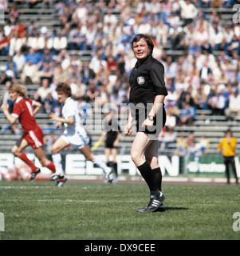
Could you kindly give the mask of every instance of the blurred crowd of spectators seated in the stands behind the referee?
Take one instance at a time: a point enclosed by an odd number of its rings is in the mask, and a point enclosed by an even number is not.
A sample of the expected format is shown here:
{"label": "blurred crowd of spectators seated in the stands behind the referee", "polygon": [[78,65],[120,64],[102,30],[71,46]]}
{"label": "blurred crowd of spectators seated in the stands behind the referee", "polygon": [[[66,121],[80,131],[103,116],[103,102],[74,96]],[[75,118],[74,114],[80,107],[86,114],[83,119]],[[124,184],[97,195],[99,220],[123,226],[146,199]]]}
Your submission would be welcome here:
{"label": "blurred crowd of spectators seated in the stands behind the referee", "polygon": [[[8,56],[6,82],[39,84],[34,98],[54,110],[57,83],[67,82],[76,99],[120,106],[128,102],[128,75],[136,59],[131,41],[150,34],[153,56],[163,62],[171,128],[191,126],[196,110],[233,119],[240,114],[240,25],[218,10],[237,0],[0,0],[9,10],[0,29],[0,55]],[[22,24],[19,6],[52,8],[59,29]],[[213,8],[208,15],[205,8]],[[50,15],[50,14],[49,14]],[[169,50],[166,54],[166,50]],[[175,54],[180,52],[180,54]],[[79,52],[88,52],[81,61]],[[46,103],[47,102],[47,103]],[[173,117],[173,118],[172,118]]]}

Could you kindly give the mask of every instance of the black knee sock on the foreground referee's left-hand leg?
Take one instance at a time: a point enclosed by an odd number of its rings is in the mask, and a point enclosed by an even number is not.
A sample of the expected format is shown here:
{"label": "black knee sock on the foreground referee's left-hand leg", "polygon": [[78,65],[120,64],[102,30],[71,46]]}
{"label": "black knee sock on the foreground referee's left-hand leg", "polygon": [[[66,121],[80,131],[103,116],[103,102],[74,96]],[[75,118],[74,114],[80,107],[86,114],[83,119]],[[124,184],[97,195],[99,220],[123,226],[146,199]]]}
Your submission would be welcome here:
{"label": "black knee sock on the foreground referee's left-hand leg", "polygon": [[144,164],[138,166],[137,168],[140,170],[140,174],[143,176],[145,182],[147,182],[151,195],[159,196],[159,189],[155,185],[151,166],[148,164],[148,162],[144,162]]}

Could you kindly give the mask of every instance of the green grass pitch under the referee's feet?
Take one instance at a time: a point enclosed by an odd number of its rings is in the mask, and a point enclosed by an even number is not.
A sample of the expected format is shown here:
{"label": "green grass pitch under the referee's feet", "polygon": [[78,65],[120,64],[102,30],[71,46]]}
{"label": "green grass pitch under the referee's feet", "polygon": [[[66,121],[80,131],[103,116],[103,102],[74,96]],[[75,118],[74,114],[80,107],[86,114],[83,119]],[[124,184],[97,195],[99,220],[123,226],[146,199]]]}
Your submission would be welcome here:
{"label": "green grass pitch under the referee's feet", "polygon": [[240,186],[163,184],[166,211],[144,183],[0,182],[2,240],[239,240]]}

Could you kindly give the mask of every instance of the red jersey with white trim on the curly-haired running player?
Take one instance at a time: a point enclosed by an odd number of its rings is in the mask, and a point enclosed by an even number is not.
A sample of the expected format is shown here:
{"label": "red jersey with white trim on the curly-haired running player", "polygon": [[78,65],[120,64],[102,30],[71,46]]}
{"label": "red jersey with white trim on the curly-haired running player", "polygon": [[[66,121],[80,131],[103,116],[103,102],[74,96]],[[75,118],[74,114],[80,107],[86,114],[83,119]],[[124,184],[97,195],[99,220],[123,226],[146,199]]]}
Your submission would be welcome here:
{"label": "red jersey with white trim on the curly-haired running player", "polygon": [[25,133],[29,133],[38,126],[33,114],[33,100],[31,99],[18,98],[14,103],[12,117],[18,118]]}

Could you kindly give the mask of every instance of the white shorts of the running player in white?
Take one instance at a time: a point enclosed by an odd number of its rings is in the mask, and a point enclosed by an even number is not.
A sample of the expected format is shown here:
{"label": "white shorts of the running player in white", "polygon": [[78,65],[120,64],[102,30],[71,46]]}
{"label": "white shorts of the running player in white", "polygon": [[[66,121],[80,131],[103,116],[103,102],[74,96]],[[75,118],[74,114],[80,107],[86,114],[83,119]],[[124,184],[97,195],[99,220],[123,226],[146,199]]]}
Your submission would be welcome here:
{"label": "white shorts of the running player in white", "polygon": [[89,145],[89,136],[84,129],[81,132],[77,132],[73,135],[63,134],[61,138],[65,140],[65,142],[69,143],[74,149],[81,150],[86,145]]}

